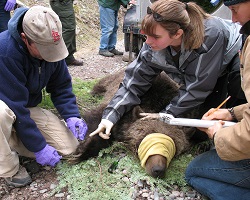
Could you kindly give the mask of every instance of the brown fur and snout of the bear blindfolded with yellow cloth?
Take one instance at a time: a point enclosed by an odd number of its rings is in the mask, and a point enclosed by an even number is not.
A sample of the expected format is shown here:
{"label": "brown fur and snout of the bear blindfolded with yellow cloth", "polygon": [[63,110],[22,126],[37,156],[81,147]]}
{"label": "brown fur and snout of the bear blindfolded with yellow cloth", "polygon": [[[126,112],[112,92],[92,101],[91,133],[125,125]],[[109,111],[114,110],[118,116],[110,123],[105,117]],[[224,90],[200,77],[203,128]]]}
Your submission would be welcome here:
{"label": "brown fur and snout of the bear blindfolded with yellow cloth", "polygon": [[[171,137],[176,146],[176,154],[179,155],[190,148],[190,138],[194,135],[195,128],[178,127],[168,125],[160,120],[142,119],[141,112],[158,113],[162,111],[170,100],[176,96],[178,86],[165,74],[161,73],[153,82],[150,90],[141,98],[141,104],[114,125],[109,140],[102,139],[98,134],[88,136],[101,121],[102,112],[107,106],[124,76],[124,71],[109,75],[101,79],[93,88],[93,95],[102,95],[102,104],[84,113],[84,119],[88,124],[88,133],[85,140],[80,142],[74,162],[80,162],[98,155],[99,151],[107,148],[113,141],[123,142],[134,154],[137,155],[138,147],[148,134],[163,133]],[[200,117],[201,112],[192,111],[185,117]],[[153,177],[163,177],[166,171],[166,158],[163,156],[150,156],[146,162],[146,171]]]}

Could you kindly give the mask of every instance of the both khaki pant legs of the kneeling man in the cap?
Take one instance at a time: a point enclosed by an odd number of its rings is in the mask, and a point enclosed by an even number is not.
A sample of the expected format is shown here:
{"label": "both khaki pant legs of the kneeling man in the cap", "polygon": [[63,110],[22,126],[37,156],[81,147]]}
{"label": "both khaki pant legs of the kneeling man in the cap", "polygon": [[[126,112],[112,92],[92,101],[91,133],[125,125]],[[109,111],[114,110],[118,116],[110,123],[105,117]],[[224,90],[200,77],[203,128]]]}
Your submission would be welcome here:
{"label": "both khaki pant legs of the kneeling man in the cap", "polygon": [[[69,155],[76,150],[78,140],[56,115],[39,107],[30,108],[30,114],[47,143],[60,155]],[[18,154],[35,158],[34,153],[27,150],[17,137],[12,127],[15,119],[13,111],[0,100],[0,177],[11,177],[17,173]]]}

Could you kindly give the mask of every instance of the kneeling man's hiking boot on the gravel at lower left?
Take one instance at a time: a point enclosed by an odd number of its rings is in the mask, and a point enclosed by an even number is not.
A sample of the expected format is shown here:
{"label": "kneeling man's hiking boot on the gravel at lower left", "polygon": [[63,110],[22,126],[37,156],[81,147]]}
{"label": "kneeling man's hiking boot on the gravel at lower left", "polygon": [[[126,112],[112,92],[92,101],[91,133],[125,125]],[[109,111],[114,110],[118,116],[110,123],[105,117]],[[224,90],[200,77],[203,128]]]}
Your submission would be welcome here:
{"label": "kneeling man's hiking boot on the gravel at lower left", "polygon": [[24,187],[32,182],[30,175],[21,165],[19,165],[19,170],[14,176],[4,178],[4,180],[9,186],[14,187]]}

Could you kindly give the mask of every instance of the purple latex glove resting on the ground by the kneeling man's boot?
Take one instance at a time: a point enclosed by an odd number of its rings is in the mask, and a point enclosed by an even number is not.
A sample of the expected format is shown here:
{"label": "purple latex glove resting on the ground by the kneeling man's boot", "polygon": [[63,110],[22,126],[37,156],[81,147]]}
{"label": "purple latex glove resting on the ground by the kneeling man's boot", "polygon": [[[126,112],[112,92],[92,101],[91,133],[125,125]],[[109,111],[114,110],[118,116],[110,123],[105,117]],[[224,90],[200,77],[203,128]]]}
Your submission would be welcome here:
{"label": "purple latex glove resting on the ground by the kneeling man's boot", "polygon": [[56,149],[50,145],[46,145],[41,151],[35,153],[36,162],[44,165],[50,165],[55,167],[56,164],[60,161],[62,156],[60,156]]}

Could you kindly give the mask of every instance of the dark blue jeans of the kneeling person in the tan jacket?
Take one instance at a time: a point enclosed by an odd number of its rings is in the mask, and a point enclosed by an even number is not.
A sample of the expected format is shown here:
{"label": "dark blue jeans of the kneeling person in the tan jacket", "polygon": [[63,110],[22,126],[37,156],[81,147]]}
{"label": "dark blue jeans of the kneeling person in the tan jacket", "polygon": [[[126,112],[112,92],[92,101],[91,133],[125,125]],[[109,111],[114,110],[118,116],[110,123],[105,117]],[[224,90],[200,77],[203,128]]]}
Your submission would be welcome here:
{"label": "dark blue jeans of the kneeling person in the tan jacket", "polygon": [[213,149],[197,156],[185,176],[189,185],[212,200],[250,199],[250,159],[223,161]]}

